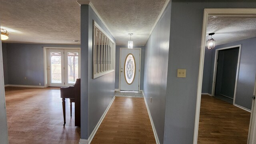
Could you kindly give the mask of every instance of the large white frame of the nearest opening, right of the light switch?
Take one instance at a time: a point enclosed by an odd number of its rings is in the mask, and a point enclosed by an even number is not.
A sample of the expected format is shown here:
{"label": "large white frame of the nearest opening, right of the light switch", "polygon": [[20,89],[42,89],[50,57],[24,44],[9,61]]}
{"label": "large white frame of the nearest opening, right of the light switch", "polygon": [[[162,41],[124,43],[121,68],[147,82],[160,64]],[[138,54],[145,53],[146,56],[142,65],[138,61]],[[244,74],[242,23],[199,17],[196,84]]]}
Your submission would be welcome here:
{"label": "large white frame of the nearest opening, right of the light switch", "polygon": [[198,138],[198,126],[199,126],[202,80],[203,80],[203,69],[204,69],[204,52],[205,52],[205,46],[206,46],[206,27],[207,27],[208,16],[256,16],[256,9],[254,8],[206,8],[204,9],[193,144],[197,144],[197,138]]}

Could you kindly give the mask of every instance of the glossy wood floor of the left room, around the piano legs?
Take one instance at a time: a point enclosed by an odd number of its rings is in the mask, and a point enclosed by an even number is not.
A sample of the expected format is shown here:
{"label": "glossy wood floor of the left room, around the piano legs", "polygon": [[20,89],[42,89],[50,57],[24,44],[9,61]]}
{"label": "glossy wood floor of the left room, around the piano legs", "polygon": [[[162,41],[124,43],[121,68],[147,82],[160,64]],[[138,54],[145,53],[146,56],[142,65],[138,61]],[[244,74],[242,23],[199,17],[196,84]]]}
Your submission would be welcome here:
{"label": "glossy wood floor of the left room, around the piano legs", "polygon": [[[5,94],[9,144],[79,143],[80,127],[70,118],[69,100],[63,126],[59,88],[6,87]],[[74,104],[72,110],[74,116]]]}

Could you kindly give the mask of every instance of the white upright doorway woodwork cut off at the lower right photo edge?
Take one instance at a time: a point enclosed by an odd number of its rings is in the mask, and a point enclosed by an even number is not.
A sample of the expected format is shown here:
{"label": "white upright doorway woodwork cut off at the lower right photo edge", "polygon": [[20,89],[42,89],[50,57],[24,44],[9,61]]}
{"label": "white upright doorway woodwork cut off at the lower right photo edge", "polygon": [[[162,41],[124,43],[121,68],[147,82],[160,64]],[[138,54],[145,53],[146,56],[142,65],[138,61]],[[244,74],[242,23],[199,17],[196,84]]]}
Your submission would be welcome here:
{"label": "white upright doorway woodwork cut off at the lower right photo edge", "polygon": [[248,134],[248,141],[247,144],[256,144],[256,102],[255,102],[255,95],[256,95],[256,78],[254,84],[254,92],[252,96],[252,112],[250,118],[250,127],[249,127],[249,134]]}

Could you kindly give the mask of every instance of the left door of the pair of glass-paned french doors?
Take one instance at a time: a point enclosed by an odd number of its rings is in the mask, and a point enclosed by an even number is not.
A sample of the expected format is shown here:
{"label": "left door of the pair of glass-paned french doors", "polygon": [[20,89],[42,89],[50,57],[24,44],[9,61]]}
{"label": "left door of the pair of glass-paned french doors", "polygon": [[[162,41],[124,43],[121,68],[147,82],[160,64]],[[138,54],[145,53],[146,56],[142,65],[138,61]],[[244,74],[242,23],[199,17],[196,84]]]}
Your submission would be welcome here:
{"label": "left door of the pair of glass-paned french doors", "polygon": [[48,56],[50,86],[64,86],[64,50],[50,49]]}

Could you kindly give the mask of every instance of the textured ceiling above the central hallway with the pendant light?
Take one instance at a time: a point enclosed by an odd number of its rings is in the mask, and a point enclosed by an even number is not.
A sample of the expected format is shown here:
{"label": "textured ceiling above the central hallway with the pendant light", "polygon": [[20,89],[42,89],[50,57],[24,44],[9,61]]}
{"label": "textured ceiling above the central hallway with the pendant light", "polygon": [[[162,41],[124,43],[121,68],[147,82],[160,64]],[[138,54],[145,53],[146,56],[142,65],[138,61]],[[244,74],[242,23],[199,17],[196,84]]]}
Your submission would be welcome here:
{"label": "textured ceiling above the central hallway with the pendant light", "polygon": [[134,45],[144,45],[166,0],[91,0],[116,38],[127,44],[133,33]]}

